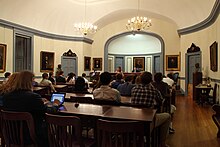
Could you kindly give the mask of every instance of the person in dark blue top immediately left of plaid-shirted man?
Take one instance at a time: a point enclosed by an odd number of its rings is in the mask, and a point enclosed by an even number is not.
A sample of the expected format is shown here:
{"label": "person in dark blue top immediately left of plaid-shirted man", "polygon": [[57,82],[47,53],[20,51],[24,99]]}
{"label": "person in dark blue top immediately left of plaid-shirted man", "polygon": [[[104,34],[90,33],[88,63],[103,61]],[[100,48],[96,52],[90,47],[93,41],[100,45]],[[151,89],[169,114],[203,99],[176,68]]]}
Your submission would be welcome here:
{"label": "person in dark blue top immediately left of plaid-shirted man", "polygon": [[125,78],[125,83],[119,84],[117,90],[123,96],[131,96],[131,89],[135,86],[132,82],[132,76],[127,76]]}

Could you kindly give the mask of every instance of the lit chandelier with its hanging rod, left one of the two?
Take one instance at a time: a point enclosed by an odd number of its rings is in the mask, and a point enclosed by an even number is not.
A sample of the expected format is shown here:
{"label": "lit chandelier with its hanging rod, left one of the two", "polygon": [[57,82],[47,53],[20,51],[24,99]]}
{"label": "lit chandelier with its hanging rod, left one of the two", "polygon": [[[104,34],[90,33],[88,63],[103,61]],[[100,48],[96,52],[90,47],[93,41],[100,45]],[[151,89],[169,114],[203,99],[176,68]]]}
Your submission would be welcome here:
{"label": "lit chandelier with its hanging rod, left one of the two", "polygon": [[90,22],[86,21],[86,0],[85,0],[85,16],[84,16],[84,22],[80,22],[80,23],[76,23],[74,24],[74,28],[81,32],[83,35],[87,35],[87,34],[93,34],[97,31],[97,26],[93,25]]}

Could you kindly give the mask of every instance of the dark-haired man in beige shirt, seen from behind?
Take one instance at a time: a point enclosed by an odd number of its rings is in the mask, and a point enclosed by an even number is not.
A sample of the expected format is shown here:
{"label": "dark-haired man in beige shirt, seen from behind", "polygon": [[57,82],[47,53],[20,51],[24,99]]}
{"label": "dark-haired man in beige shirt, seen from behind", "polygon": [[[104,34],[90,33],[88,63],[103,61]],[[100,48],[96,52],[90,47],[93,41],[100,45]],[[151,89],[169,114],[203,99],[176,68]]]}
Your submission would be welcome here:
{"label": "dark-haired man in beige shirt, seen from behind", "polygon": [[95,99],[107,99],[121,102],[119,91],[109,86],[111,78],[112,77],[109,72],[103,72],[100,75],[99,81],[101,86],[93,91],[93,96]]}

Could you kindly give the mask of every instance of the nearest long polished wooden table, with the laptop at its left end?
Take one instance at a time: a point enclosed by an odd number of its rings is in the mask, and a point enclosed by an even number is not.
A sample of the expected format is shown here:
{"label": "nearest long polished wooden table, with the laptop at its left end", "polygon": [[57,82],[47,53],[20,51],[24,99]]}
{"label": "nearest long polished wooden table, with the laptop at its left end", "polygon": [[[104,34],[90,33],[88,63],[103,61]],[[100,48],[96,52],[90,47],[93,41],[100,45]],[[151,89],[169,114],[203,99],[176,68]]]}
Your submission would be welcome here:
{"label": "nearest long polished wooden table, with the laptop at its left end", "polygon": [[63,106],[60,107],[59,113],[95,120],[95,123],[98,119],[143,122],[146,127],[146,146],[150,146],[151,144],[150,138],[151,131],[154,128],[156,109],[82,103],[77,106],[75,103],[65,102]]}

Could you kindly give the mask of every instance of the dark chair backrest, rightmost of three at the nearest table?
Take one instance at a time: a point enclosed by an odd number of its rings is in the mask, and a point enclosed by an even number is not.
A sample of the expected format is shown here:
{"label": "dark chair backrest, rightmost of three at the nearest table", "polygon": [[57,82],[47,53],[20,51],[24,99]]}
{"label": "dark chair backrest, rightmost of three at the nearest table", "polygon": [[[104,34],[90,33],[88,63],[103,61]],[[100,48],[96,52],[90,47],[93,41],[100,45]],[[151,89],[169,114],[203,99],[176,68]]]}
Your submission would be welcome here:
{"label": "dark chair backrest, rightmost of three at the nearest table", "polygon": [[137,121],[97,122],[98,147],[143,147],[144,124]]}

